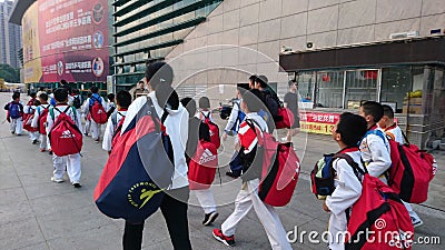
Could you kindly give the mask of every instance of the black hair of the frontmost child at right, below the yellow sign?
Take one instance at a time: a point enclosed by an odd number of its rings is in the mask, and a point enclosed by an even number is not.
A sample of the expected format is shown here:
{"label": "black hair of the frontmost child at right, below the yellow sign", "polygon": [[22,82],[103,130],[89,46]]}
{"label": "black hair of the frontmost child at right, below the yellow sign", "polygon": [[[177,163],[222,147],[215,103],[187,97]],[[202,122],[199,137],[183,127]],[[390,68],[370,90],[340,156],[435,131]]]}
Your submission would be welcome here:
{"label": "black hair of the frontmost child at right, below the yellow sign", "polygon": [[342,141],[348,147],[358,146],[358,142],[367,131],[367,122],[365,118],[350,112],[340,114],[337,123],[337,133],[342,134]]}

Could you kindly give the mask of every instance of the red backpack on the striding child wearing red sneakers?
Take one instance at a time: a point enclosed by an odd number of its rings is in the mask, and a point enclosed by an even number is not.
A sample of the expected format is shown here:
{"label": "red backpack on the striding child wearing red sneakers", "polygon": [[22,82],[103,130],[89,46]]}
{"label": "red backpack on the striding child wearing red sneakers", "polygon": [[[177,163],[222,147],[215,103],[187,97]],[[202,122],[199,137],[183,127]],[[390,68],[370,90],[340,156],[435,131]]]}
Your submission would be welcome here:
{"label": "red backpack on the striding child wearing red sneakers", "polygon": [[255,127],[255,120],[247,119],[246,122],[258,138],[259,157],[255,157],[253,162],[253,166],[261,166],[258,197],[269,206],[286,206],[293,197],[300,170],[293,143],[279,143],[273,134],[260,131],[259,126]]}

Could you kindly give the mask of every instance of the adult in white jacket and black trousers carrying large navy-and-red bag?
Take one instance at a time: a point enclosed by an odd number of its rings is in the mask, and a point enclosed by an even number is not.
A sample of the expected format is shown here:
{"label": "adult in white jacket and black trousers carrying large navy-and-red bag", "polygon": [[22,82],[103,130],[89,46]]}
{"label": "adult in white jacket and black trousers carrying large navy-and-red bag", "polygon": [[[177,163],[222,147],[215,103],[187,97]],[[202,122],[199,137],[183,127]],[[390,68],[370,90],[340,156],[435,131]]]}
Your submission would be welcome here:
{"label": "adult in white jacket and black trousers carrying large navy-and-red bag", "polygon": [[[187,219],[189,188],[185,154],[189,114],[180,104],[177,93],[170,87],[172,77],[171,67],[162,61],[147,66],[146,82],[150,90],[148,98],[151,99],[159,118],[162,118],[162,114],[167,112],[164,126],[170,137],[174,149],[175,173],[172,183],[164,197],[160,210],[166,220],[174,249],[189,250],[191,249]],[[146,102],[147,97],[139,97],[131,103],[127,111],[122,131],[126,130]],[[162,168],[162,166],[159,166],[159,168]],[[123,249],[140,249],[142,231],[144,221],[139,223],[126,221],[122,239]]]}

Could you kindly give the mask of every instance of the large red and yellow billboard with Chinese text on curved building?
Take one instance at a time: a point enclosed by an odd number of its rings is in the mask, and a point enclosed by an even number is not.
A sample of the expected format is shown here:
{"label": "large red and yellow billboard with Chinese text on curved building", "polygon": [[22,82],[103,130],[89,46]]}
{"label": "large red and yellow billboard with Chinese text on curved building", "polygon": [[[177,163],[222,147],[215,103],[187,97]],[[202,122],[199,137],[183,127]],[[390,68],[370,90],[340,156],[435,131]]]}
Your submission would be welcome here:
{"label": "large red and yellow billboard with Chinese text on curved building", "polygon": [[23,38],[32,37],[23,41],[23,48],[32,48],[23,57],[26,82],[105,82],[108,22],[106,0],[38,0],[22,19]]}

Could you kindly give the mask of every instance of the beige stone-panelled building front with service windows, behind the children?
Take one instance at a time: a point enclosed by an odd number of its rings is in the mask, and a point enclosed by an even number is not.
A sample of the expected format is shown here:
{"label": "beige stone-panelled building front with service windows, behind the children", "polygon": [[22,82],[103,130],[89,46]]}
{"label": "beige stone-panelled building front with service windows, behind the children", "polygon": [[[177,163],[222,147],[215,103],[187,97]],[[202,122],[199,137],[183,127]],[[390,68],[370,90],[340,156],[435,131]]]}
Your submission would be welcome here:
{"label": "beige stone-panelled building front with service windows, behind the children", "polygon": [[[287,81],[296,79],[301,106],[308,108],[303,118],[317,118],[303,121],[312,132],[329,133],[333,124],[325,118],[356,111],[365,100],[388,103],[411,140],[424,147],[441,139],[445,127],[445,110],[438,108],[445,107],[443,61],[404,57],[404,61],[384,58],[363,64],[349,60],[338,66],[329,59],[338,48],[369,43],[376,43],[374,54],[363,56],[363,50],[349,54],[352,59],[376,58],[384,53],[383,44],[439,38],[444,29],[445,2],[441,0],[225,0],[167,59],[178,62],[180,93],[206,89],[214,104],[233,97],[230,87],[247,82],[250,73],[266,74],[281,97]],[[319,51],[325,51],[324,58],[313,68],[281,63],[287,56],[281,52],[307,58]],[[397,58],[400,51],[385,53]],[[288,61],[291,66],[298,60]]]}

